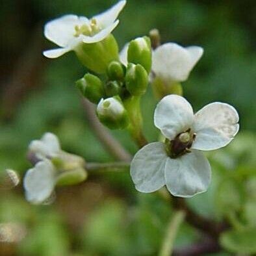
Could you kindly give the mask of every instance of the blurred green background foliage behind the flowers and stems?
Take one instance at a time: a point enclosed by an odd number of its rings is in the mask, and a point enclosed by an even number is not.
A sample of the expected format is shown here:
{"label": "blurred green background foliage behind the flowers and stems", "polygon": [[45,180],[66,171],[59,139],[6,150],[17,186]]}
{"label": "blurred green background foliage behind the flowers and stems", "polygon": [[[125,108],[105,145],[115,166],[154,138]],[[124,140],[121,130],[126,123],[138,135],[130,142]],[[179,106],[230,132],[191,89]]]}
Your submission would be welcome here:
{"label": "blurred green background foliage behind the flowers and stems", "polygon": [[[43,37],[46,21],[63,14],[91,17],[114,3],[107,0],[0,2],[1,183],[6,168],[17,170],[22,177],[31,167],[26,160],[27,146],[46,131],[58,135],[63,149],[82,155],[88,162],[114,160],[90,131],[81,96],[74,86],[86,70],[73,53],[55,60],[42,56],[43,49],[53,47]],[[120,15],[120,25],[114,31],[120,49],[125,42],[148,34],[153,28],[159,29],[162,42],[204,48],[203,58],[183,83],[185,97],[196,110],[212,101],[230,103],[240,113],[241,131],[227,149],[209,153],[213,170],[211,188],[189,203],[195,211],[217,220],[229,215],[224,211],[229,207],[229,211],[236,212],[238,222],[253,227],[254,231],[255,13],[256,2],[252,0],[128,0]],[[144,130],[148,140],[154,141],[158,136],[152,118],[156,100],[150,88],[142,104],[147,113]],[[113,134],[131,153],[136,152],[125,131]],[[129,173],[90,177],[83,185],[58,189],[53,203],[40,207],[25,201],[22,185],[10,190],[1,184],[0,255],[157,255],[171,208],[157,194],[137,193]],[[6,227],[9,239],[5,237]],[[251,234],[256,233],[249,232],[249,237]],[[175,246],[188,246],[198,238],[199,234],[185,224]],[[234,242],[234,239],[223,238],[225,250],[218,255],[251,248],[251,244],[246,244],[248,240],[241,242],[238,238]],[[236,249],[239,242],[242,247]]]}

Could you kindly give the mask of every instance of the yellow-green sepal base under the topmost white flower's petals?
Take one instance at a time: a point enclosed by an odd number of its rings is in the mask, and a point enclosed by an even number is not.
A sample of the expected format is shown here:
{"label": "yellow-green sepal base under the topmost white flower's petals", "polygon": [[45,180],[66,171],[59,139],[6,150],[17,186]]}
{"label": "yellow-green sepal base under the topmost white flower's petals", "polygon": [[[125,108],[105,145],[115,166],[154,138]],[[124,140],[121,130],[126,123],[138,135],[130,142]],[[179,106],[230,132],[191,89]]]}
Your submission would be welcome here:
{"label": "yellow-green sepal base under the topmost white flower's petals", "polygon": [[106,73],[109,63],[119,60],[118,44],[112,34],[94,44],[79,44],[74,50],[81,63],[96,73]]}

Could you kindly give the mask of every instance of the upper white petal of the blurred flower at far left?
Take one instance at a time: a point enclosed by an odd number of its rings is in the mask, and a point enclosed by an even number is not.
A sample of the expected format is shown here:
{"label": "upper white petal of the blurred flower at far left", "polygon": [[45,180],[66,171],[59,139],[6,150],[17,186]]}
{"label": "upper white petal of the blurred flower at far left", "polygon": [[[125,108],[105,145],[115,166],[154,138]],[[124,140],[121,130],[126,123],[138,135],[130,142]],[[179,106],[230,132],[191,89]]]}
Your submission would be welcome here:
{"label": "upper white petal of the blurred flower at far left", "polygon": [[29,151],[34,153],[38,159],[55,157],[60,152],[58,138],[53,133],[45,133],[41,140],[32,140]]}

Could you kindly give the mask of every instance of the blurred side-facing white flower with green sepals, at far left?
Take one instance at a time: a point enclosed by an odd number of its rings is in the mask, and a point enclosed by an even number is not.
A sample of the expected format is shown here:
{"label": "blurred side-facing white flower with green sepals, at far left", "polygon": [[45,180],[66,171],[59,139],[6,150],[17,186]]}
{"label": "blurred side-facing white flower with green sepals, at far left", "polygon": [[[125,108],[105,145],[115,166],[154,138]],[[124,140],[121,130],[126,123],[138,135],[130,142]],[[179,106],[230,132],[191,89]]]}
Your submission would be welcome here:
{"label": "blurred side-facing white flower with green sepals, at far left", "polygon": [[44,202],[57,183],[75,184],[86,179],[84,160],[62,151],[58,137],[53,133],[45,133],[41,140],[33,140],[29,155],[36,165],[25,174],[23,186],[27,201],[31,203]]}

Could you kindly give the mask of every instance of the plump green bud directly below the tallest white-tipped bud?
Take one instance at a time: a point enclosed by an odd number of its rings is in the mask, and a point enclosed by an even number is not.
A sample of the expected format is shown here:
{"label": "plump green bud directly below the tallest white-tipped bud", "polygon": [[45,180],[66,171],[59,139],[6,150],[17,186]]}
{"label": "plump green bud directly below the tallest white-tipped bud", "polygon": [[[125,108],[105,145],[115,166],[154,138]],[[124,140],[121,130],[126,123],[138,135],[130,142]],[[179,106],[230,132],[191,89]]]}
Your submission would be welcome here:
{"label": "plump green bud directly below the tallest white-tipped bud", "polygon": [[133,96],[142,96],[147,90],[147,71],[140,64],[129,63],[125,75],[125,85]]}

